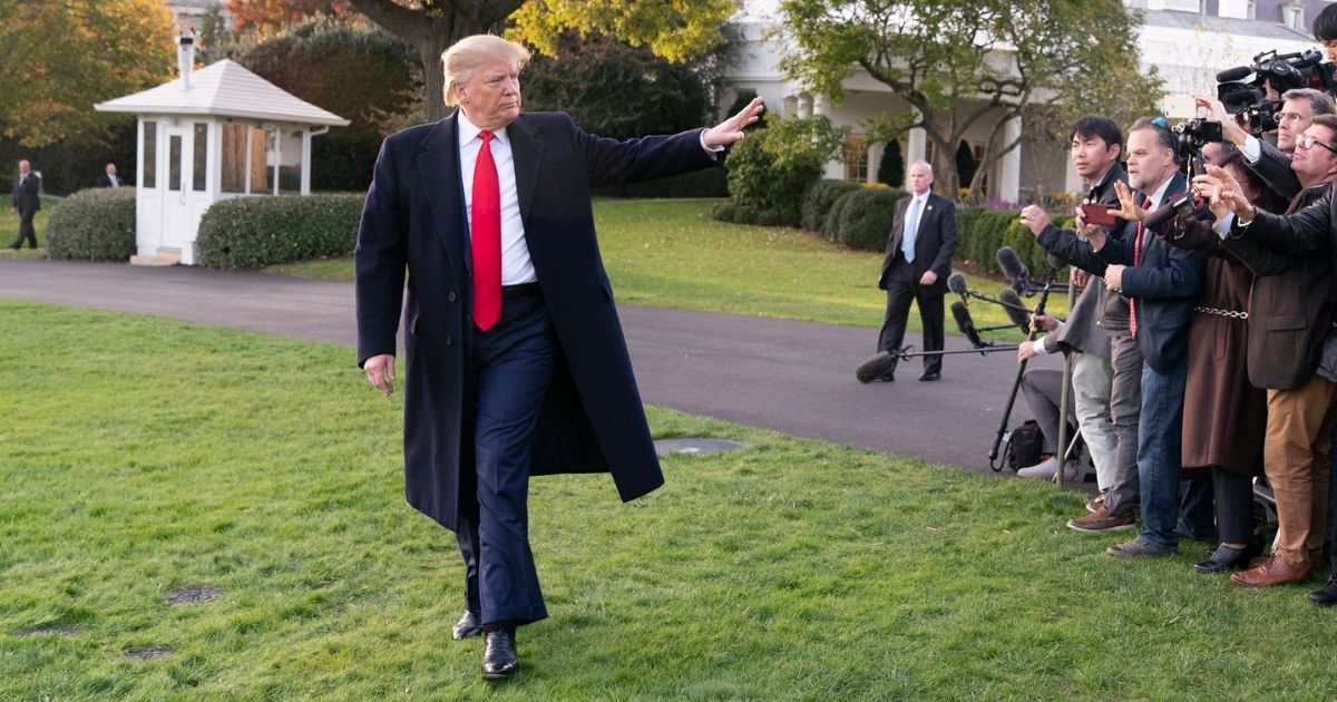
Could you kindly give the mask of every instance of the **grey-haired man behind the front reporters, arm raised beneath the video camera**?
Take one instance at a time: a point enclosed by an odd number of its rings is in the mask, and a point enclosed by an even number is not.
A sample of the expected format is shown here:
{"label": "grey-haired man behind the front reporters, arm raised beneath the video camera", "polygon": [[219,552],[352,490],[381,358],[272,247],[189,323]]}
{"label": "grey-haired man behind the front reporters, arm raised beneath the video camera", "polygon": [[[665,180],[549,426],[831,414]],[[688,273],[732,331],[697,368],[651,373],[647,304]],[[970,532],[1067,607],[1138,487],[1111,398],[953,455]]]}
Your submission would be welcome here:
{"label": "grey-haired man behind the front reporters, arm raised beneath the video camera", "polygon": [[1211,119],[1221,122],[1222,135],[1235,144],[1245,155],[1245,163],[1262,177],[1273,191],[1290,199],[1301,190],[1300,181],[1290,170],[1290,158],[1296,151],[1296,136],[1304,134],[1314,122],[1314,115],[1330,115],[1334,104],[1330,95],[1313,88],[1289,90],[1281,95],[1278,112],[1277,144],[1273,146],[1247,131],[1239,122],[1226,114],[1226,106],[1215,98],[1195,95],[1198,107],[1211,111]]}

